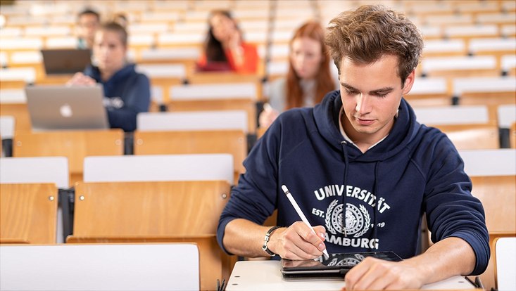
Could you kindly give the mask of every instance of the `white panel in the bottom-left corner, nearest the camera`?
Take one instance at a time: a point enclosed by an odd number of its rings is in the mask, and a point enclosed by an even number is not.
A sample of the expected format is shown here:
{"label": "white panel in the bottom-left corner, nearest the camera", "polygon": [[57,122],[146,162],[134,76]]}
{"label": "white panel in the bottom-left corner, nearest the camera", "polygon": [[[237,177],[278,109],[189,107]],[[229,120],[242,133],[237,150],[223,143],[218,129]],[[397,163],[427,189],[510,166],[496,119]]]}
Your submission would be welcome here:
{"label": "white panel in the bottom-left corner, nearest the camera", "polygon": [[1,245],[0,253],[1,290],[199,290],[192,243]]}

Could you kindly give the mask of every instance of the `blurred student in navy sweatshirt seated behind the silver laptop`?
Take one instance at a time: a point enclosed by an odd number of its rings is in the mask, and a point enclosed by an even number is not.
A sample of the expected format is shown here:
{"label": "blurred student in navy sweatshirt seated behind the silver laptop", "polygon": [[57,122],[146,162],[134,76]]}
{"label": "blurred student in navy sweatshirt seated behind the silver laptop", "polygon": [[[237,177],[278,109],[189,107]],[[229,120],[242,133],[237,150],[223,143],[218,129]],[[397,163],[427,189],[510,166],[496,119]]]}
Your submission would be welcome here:
{"label": "blurred student in navy sweatshirt seated behind the silver laptop", "polygon": [[67,84],[102,84],[111,127],[134,131],[137,114],[149,110],[151,89],[149,78],[136,72],[133,63],[127,63],[126,53],[127,32],[124,27],[115,22],[102,25],[95,34],[93,46],[96,65],[77,72]]}

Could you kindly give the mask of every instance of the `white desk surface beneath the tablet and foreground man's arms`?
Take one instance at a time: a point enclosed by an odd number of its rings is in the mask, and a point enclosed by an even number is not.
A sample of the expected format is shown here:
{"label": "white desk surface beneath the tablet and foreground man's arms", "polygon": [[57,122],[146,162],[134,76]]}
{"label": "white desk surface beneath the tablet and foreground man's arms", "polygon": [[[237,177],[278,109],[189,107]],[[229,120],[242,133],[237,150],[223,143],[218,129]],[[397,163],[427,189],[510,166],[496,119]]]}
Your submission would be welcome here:
{"label": "white desk surface beneath the tablet and foreground man's arms", "polygon": [[[237,290],[341,290],[343,280],[283,280],[279,261],[237,261],[227,282],[227,291]],[[474,290],[462,276],[424,285],[423,290]]]}

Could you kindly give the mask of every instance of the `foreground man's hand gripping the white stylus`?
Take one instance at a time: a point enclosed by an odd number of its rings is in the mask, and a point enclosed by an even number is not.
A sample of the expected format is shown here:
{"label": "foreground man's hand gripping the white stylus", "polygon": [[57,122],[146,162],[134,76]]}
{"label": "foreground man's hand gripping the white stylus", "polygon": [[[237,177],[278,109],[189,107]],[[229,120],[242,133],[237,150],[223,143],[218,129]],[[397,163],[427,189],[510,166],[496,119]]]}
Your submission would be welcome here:
{"label": "foreground man's hand gripping the white stylus", "polygon": [[325,250],[324,226],[314,226],[315,233],[303,223],[296,221],[289,228],[278,228],[272,233],[269,249],[284,259],[315,259]]}

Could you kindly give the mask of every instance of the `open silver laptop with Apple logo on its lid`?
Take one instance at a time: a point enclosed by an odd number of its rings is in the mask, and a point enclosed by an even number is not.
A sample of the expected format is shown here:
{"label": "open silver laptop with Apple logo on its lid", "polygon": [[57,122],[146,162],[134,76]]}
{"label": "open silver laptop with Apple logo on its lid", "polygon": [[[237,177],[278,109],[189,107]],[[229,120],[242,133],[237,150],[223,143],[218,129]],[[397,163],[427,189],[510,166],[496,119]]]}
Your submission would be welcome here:
{"label": "open silver laptop with Apple logo on its lid", "polygon": [[108,129],[103,89],[96,86],[26,86],[33,131]]}

